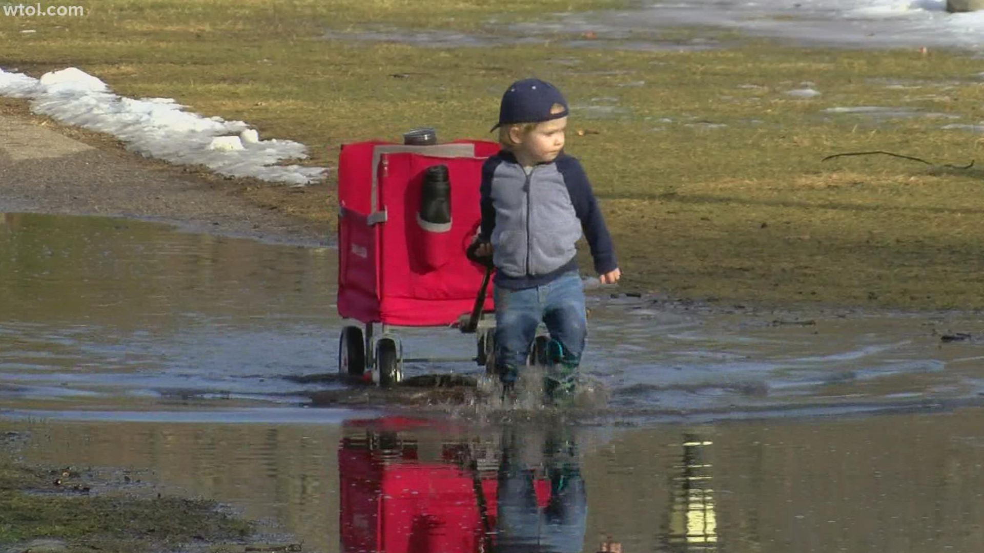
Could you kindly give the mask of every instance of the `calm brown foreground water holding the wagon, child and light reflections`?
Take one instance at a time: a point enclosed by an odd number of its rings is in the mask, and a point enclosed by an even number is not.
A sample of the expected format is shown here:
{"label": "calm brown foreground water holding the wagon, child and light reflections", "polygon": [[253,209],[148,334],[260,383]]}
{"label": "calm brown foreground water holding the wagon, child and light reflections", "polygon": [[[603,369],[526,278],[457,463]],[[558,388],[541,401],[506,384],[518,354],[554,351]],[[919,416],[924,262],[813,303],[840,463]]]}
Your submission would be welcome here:
{"label": "calm brown foreground water holding the wagon, child and light reflections", "polygon": [[322,553],[574,553],[604,541],[866,553],[900,539],[973,551],[984,507],[980,409],[646,428],[392,416],[24,428],[25,461],[231,504]]}

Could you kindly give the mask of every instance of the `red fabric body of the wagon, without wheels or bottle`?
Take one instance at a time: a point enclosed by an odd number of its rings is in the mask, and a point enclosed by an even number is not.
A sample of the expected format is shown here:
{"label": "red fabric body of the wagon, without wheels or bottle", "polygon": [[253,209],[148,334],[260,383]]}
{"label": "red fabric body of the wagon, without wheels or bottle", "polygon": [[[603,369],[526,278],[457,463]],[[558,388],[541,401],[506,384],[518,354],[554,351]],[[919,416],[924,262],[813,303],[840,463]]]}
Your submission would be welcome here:
{"label": "red fabric body of the wagon, without wheels or bottle", "polygon": [[[472,144],[473,157],[383,154],[377,206],[371,205],[372,159],[385,142],[345,145],[338,157],[338,314],[362,323],[447,326],[473,307],[483,269],[464,257],[480,219],[478,187],[485,157],[499,145]],[[451,180],[452,227],[429,232],[416,220],[423,171],[444,163]],[[385,167],[384,167],[385,164]],[[386,210],[369,226],[366,216]],[[489,286],[491,288],[491,285]],[[494,310],[492,293],[486,311]]]}

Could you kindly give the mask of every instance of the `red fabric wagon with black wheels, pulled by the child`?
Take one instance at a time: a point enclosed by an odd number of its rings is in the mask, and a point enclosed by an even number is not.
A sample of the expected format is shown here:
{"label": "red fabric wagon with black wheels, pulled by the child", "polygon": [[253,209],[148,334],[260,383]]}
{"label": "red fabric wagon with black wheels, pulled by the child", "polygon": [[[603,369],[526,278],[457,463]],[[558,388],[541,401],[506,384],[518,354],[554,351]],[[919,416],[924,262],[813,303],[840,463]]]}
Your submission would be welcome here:
{"label": "red fabric wagon with black wheels, pulled by the child", "polygon": [[[341,331],[340,373],[389,386],[400,382],[404,362],[490,366],[493,333],[485,323],[468,329],[477,343],[467,359],[403,358],[394,328],[454,326],[478,307],[485,268],[465,249],[481,218],[482,163],[498,151],[496,143],[463,140],[341,148],[338,314],[362,325]],[[479,313],[494,309],[491,294],[483,295]],[[382,326],[379,336],[374,325]]]}

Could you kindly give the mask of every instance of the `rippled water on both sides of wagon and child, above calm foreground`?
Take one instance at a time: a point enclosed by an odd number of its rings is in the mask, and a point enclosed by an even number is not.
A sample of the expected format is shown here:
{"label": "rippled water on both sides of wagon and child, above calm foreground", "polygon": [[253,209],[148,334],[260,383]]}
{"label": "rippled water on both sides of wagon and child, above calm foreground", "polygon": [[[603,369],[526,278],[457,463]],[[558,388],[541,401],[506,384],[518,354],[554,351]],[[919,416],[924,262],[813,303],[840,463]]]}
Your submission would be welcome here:
{"label": "rippled water on both sides of wagon and child, above calm foreground", "polygon": [[[388,403],[488,414],[481,391],[382,392],[338,378],[334,249],[122,219],[2,220],[0,415],[329,423],[343,416],[331,409]],[[583,372],[609,399],[592,399],[589,419],[809,416],[984,393],[974,361],[984,321],[972,314],[776,315],[606,293],[588,295]],[[954,333],[969,339],[941,338]],[[398,335],[406,357],[474,355],[474,338],[454,329]],[[483,373],[473,362],[407,362],[404,372],[462,382]]]}

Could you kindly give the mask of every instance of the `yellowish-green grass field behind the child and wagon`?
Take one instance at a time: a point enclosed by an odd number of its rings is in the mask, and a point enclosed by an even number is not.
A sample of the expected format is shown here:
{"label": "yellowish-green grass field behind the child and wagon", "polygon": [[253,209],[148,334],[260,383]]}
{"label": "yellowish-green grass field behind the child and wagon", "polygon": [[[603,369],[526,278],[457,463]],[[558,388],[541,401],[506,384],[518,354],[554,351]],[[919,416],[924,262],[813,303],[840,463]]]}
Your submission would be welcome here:
{"label": "yellowish-green grass field behind the child and wagon", "polygon": [[[623,289],[729,302],[984,307],[984,59],[960,52],[784,47],[707,30],[653,37],[725,48],[620,50],[583,31],[527,31],[612,0],[77,1],[82,18],[5,18],[0,67],[75,66],[130,96],[242,119],[334,164],[338,146],[413,126],[491,138],[502,90],[535,75],[572,104],[568,152],[602,201]],[[563,27],[561,26],[561,29]],[[23,33],[32,30],[35,32]],[[349,38],[461,31],[498,45]],[[787,92],[812,88],[814,97]],[[849,112],[851,107],[897,113]],[[579,132],[581,131],[581,132]],[[829,154],[888,151],[888,155]],[[229,186],[236,186],[230,183]],[[259,204],[330,220],[324,194],[243,186]],[[328,199],[327,204],[325,200]],[[587,265],[585,264],[585,267]]]}

